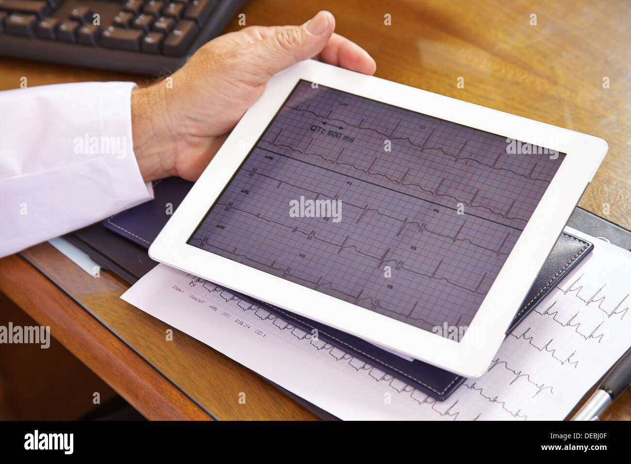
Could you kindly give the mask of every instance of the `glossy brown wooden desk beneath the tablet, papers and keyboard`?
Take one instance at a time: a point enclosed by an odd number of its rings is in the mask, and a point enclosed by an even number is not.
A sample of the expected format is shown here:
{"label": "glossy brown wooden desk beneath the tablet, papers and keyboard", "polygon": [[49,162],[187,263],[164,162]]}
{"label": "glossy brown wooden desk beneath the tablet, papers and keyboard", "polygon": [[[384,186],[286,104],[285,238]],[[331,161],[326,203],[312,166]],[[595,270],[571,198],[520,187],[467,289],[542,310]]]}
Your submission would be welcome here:
{"label": "glossy brown wooden desk beneath the tablet, papers and keyboard", "polygon": [[[376,75],[604,138],[609,153],[580,205],[631,229],[631,15],[622,2],[251,0],[248,25],[292,24],[319,9],[377,61]],[[531,14],[537,25],[531,25]],[[392,25],[384,25],[384,15]],[[238,30],[237,21],[227,31]],[[147,79],[0,59],[0,90]],[[457,78],[464,88],[457,88]],[[603,78],[610,88],[603,88]],[[604,215],[608,205],[609,215]],[[126,304],[127,284],[91,278],[48,244],[0,260],[0,291],[150,419],[314,419],[313,413],[203,343]],[[37,289],[33,292],[33,289]],[[165,346],[167,345],[167,346]],[[247,391],[247,402],[238,395]],[[627,389],[607,413],[631,419]]]}

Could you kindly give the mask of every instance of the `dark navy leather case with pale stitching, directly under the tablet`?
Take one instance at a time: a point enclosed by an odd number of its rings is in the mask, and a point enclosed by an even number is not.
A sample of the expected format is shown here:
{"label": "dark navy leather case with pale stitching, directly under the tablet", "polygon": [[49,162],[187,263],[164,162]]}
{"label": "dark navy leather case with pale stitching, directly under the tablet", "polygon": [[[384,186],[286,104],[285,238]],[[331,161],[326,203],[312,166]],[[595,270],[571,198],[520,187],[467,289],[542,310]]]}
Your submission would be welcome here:
{"label": "dark navy leather case with pale stitching, directly under the tablet", "polygon": [[[114,236],[124,237],[129,244],[133,243],[137,247],[136,253],[128,253],[121,249],[112,250],[109,253],[110,263],[112,255],[116,256],[119,272],[124,269],[127,280],[133,280],[136,276],[140,277],[146,271],[145,267],[151,266],[151,263],[146,262],[146,259],[148,259],[146,249],[148,249],[158,232],[160,232],[160,229],[167,222],[170,214],[184,199],[191,186],[191,182],[183,181],[177,177],[157,181],[153,186],[155,193],[153,201],[136,206],[131,210],[122,211],[103,221],[102,227],[105,227],[111,234],[107,242],[111,243],[114,241]],[[83,232],[83,235],[93,238],[97,226],[91,226],[93,229],[88,228],[89,230]],[[81,234],[81,232],[78,234]],[[565,233],[561,234],[545,265],[541,268],[540,274],[529,291],[528,297],[524,300],[520,311],[515,315],[510,330],[525,318],[536,307],[538,302],[592,248],[593,245],[591,243],[582,241],[578,237]],[[97,263],[100,262],[97,260]],[[271,313],[304,331],[311,333],[317,330],[321,340],[352,354],[357,359],[378,367],[384,373],[414,386],[437,400],[448,398],[464,381],[463,377],[452,374],[452,372],[431,366],[420,360],[406,360],[356,336],[348,335],[343,331],[303,318],[298,314],[278,307],[270,306],[245,295],[240,296],[250,300],[253,304],[265,307]]]}

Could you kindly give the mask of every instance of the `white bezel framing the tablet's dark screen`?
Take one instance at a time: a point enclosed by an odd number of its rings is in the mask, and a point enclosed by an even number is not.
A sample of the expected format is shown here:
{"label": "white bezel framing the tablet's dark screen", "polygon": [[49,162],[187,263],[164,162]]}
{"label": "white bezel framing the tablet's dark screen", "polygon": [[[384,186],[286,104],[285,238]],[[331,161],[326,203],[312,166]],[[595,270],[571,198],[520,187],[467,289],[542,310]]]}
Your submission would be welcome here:
{"label": "white bezel framing the tablet's dark screen", "polygon": [[[566,153],[460,342],[187,244],[298,80]],[[245,143],[246,149],[243,149]],[[149,249],[151,258],[466,377],[483,374],[607,151],[599,138],[321,62],[276,74],[245,113]]]}

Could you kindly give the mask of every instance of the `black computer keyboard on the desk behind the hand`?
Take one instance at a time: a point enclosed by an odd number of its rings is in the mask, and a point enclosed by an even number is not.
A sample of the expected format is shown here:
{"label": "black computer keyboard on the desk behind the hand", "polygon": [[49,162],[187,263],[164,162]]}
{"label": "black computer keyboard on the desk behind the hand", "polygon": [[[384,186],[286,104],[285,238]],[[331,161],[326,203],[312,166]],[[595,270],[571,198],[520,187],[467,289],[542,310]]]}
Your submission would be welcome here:
{"label": "black computer keyboard on the desk behind the hand", "polygon": [[0,54],[170,73],[247,0],[0,0]]}

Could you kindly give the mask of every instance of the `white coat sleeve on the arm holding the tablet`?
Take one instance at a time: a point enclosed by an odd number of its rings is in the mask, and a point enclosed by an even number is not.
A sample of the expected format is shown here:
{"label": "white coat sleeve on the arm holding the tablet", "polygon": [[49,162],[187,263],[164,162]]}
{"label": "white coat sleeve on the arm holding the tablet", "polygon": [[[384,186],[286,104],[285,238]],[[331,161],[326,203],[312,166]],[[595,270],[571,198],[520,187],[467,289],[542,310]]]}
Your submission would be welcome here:
{"label": "white coat sleeve on the arm holding the tablet", "polygon": [[0,257],[153,198],[131,139],[131,82],[0,92]]}

